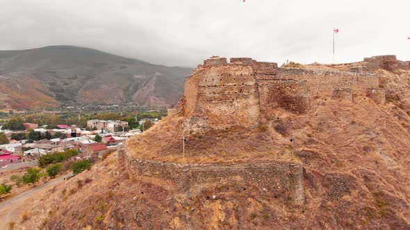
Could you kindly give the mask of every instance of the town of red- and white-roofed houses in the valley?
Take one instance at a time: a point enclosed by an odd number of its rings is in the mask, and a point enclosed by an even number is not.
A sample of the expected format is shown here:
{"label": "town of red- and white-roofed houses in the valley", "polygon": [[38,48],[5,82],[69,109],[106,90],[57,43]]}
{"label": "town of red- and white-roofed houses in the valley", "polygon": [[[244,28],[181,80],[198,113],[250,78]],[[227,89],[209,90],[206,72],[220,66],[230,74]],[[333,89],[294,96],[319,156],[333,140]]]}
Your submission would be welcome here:
{"label": "town of red- and white-roofed houses in the valley", "polygon": [[[139,121],[142,130],[158,123],[158,118],[144,118]],[[22,123],[24,130],[0,130],[0,169],[27,163],[35,165],[45,154],[75,149],[80,152],[72,160],[99,159],[106,152],[117,150],[126,139],[138,135],[140,129],[130,129],[126,121],[89,120],[86,128],[76,125],[47,125]],[[1,127],[0,127],[1,129]],[[34,164],[33,164],[34,163]],[[13,166],[11,166],[13,165]]]}

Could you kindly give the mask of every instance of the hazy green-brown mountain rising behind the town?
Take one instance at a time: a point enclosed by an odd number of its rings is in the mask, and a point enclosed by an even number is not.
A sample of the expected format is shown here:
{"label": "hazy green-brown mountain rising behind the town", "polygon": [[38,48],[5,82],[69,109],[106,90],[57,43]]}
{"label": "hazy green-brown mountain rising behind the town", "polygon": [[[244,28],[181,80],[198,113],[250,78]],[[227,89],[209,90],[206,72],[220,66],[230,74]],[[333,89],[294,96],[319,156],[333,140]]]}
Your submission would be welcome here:
{"label": "hazy green-brown mountain rising behind the town", "polygon": [[77,46],[0,51],[0,109],[70,102],[174,105],[191,71]]}

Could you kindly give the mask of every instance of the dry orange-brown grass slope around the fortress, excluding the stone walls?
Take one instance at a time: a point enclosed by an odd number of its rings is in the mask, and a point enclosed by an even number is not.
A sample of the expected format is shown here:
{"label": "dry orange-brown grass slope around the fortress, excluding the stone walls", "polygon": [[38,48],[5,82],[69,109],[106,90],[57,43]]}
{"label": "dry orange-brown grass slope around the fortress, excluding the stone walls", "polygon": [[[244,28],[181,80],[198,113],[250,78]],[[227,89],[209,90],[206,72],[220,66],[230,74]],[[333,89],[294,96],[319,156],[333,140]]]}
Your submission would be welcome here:
{"label": "dry orange-brown grass slope around the fortress, excluding the stone walls", "polygon": [[[33,229],[410,229],[410,71],[379,71],[388,103],[318,100],[308,114],[278,112],[247,130],[188,136],[182,118],[165,119],[127,143],[135,157],[188,162],[304,163],[305,204],[290,206],[263,188],[215,186],[185,197],[161,181],[138,181],[113,154],[27,207]],[[247,188],[244,190],[243,188]],[[215,198],[213,198],[215,195]]]}

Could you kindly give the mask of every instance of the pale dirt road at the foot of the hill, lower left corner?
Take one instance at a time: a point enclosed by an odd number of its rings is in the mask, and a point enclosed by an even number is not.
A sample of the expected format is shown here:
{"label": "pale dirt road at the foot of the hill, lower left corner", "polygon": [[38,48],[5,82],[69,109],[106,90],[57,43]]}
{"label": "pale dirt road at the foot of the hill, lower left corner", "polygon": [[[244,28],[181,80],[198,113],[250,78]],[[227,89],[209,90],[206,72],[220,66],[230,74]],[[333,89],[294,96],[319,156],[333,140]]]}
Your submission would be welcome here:
{"label": "pale dirt road at the foot of the hill, lower left corner", "polygon": [[55,186],[61,182],[64,182],[64,178],[70,177],[72,175],[65,175],[62,177],[58,177],[56,179],[47,182],[46,184],[42,184],[40,186],[36,186],[35,188],[21,193],[10,200],[6,200],[0,203],[0,229],[8,229],[8,222],[14,221],[16,222],[21,218],[22,213],[25,209],[30,206],[30,203],[33,202],[35,195],[37,193],[44,193],[47,189]]}

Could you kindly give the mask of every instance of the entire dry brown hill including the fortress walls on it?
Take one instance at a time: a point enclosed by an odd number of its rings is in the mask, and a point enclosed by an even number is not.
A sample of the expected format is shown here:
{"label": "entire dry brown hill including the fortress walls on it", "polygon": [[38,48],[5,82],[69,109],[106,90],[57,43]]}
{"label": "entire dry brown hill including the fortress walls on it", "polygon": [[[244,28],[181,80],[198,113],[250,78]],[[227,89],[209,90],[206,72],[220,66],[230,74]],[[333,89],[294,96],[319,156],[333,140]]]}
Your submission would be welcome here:
{"label": "entire dry brown hill including the fortress walls on it", "polygon": [[161,123],[33,198],[31,218],[14,221],[45,229],[409,229],[408,64],[389,56],[286,68],[212,57]]}

